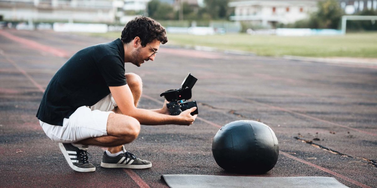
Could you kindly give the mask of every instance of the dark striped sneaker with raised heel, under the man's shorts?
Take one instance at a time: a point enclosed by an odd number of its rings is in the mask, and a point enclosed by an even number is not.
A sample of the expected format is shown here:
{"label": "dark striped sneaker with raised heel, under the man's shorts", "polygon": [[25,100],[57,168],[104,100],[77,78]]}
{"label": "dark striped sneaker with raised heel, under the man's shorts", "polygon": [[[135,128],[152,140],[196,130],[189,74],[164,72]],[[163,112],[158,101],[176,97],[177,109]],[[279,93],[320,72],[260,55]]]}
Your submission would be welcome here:
{"label": "dark striped sneaker with raised heel, under the man's shorts", "polygon": [[[92,172],[95,171],[95,166],[88,162],[88,154],[86,152],[87,147],[75,147],[68,143],[59,143],[61,152],[66,158],[69,166],[78,172]],[[89,154],[90,155],[90,154]],[[92,156],[90,155],[90,158]]]}

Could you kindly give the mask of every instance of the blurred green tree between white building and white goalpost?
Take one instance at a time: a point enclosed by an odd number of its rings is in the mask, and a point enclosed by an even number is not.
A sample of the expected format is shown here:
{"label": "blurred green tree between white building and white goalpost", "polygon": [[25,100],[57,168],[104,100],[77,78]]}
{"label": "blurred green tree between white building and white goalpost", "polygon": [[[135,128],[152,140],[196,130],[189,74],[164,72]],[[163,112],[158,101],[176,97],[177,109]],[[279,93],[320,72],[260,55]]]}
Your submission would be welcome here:
{"label": "blurred green tree between white building and white goalpost", "polygon": [[311,15],[310,28],[338,29],[343,9],[337,0],[323,0],[318,2],[318,11]]}

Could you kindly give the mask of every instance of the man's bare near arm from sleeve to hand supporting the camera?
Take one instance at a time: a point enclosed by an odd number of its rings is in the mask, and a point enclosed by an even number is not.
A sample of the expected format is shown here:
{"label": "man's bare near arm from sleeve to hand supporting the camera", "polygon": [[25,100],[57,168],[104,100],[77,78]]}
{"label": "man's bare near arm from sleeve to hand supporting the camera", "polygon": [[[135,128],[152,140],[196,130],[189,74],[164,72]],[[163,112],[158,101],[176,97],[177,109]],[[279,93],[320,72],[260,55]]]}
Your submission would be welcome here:
{"label": "man's bare near arm from sleeve to hand supporting the camera", "polygon": [[144,125],[164,125],[164,124],[179,124],[190,125],[195,121],[197,115],[190,115],[195,111],[195,107],[187,109],[180,115],[172,116],[159,114],[146,109],[136,108],[133,103],[132,92],[128,85],[123,86],[110,86],[110,92],[114,97],[118,108],[124,115],[136,118],[140,124]]}

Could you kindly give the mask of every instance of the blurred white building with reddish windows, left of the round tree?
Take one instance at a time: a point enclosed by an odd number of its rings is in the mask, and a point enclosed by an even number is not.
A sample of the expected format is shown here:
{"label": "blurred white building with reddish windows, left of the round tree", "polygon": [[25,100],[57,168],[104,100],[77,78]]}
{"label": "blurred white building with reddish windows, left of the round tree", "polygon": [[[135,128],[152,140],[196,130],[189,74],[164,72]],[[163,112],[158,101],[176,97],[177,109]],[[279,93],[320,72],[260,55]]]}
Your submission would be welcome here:
{"label": "blurred white building with reddish windows, left of the round tree", "polygon": [[228,4],[234,7],[233,21],[248,21],[264,27],[276,23],[294,23],[309,18],[317,10],[318,0],[235,0]]}

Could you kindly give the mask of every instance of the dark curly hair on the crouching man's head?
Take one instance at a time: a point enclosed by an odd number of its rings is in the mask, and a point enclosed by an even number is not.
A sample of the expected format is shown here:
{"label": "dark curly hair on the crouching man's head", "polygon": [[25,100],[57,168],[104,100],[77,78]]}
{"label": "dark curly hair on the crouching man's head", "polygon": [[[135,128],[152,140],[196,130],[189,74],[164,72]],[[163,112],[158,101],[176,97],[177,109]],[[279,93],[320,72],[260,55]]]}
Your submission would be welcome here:
{"label": "dark curly hair on the crouching man's head", "polygon": [[157,39],[162,44],[167,42],[165,28],[149,17],[137,16],[129,21],[122,31],[121,40],[124,43],[129,43],[136,36],[141,39],[141,46],[143,47],[154,39]]}

